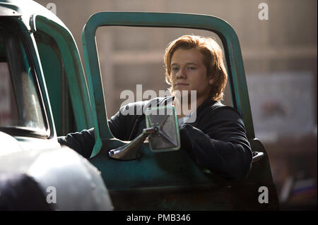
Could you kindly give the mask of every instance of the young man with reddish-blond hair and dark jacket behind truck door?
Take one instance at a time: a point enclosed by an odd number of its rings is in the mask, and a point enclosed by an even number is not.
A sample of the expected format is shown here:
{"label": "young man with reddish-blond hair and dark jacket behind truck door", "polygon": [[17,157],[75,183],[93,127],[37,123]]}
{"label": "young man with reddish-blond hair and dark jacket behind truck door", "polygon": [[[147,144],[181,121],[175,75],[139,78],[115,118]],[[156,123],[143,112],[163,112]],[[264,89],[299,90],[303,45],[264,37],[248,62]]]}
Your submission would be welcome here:
{"label": "young man with reddish-blond hair and dark jacket behind truck door", "polygon": [[[133,140],[146,128],[145,116],[138,112],[145,107],[172,103],[179,119],[181,150],[187,151],[199,166],[225,179],[245,178],[251,168],[252,151],[240,114],[219,102],[223,99],[227,72],[216,41],[194,35],[175,39],[165,51],[165,69],[172,97],[158,97],[122,107],[108,121],[114,137]],[[196,94],[194,100],[193,94]],[[186,114],[184,109],[189,107],[183,106],[193,103],[196,107]],[[128,113],[131,107],[134,114]],[[195,114],[194,121],[189,119],[193,118],[192,114]],[[59,138],[59,142],[90,157],[95,144],[94,130],[71,133]]]}

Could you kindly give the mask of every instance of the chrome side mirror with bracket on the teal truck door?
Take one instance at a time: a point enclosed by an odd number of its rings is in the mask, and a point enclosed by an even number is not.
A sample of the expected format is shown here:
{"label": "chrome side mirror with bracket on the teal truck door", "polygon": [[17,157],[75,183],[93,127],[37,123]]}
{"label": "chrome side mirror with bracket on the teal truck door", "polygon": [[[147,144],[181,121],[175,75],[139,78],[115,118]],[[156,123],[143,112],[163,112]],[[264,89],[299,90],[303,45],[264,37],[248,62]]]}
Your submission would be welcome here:
{"label": "chrome side mirror with bracket on the teal truck door", "polygon": [[146,125],[143,133],[131,142],[110,150],[112,159],[132,160],[141,157],[141,145],[149,137],[149,147],[153,152],[179,150],[179,125],[175,107],[155,107],[146,109]]}

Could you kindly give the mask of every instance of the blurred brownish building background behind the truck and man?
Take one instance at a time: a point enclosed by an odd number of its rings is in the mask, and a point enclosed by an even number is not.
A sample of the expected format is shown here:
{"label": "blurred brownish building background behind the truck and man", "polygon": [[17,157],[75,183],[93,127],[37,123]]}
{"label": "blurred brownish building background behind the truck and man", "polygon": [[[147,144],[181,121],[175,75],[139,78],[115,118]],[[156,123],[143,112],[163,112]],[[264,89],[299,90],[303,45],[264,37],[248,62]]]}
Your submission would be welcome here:
{"label": "blurred brownish building background behind the truck and man", "polygon": [[[281,209],[317,209],[317,1],[316,0],[37,0],[57,13],[76,39],[98,11],[200,13],[226,20],[240,40],[257,138],[269,154]],[[52,4],[53,3],[53,4]],[[268,18],[259,13],[268,6]],[[185,34],[175,28],[99,28],[100,67],[107,115],[116,113],[123,90],[167,90],[163,54]],[[147,92],[146,92],[147,94]],[[146,95],[145,94],[145,95]],[[143,96],[143,99],[150,97]],[[136,101],[136,95],[135,99]],[[231,104],[225,92],[225,104]]]}

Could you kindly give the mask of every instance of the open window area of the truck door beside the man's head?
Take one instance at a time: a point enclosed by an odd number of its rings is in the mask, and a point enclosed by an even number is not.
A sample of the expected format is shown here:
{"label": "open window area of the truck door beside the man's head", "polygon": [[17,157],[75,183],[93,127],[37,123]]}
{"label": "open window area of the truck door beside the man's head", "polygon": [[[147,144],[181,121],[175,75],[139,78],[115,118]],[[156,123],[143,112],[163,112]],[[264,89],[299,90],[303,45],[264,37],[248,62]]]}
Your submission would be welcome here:
{"label": "open window area of the truck door beside the man's head", "polygon": [[[125,37],[131,33],[135,38],[127,41]],[[171,95],[168,90],[170,85],[165,83],[165,48],[182,35],[211,37],[223,49],[218,35],[208,30],[128,26],[98,28],[96,44],[108,116],[116,114],[124,104]],[[224,62],[226,64],[225,59]],[[232,106],[229,79],[222,102]]]}

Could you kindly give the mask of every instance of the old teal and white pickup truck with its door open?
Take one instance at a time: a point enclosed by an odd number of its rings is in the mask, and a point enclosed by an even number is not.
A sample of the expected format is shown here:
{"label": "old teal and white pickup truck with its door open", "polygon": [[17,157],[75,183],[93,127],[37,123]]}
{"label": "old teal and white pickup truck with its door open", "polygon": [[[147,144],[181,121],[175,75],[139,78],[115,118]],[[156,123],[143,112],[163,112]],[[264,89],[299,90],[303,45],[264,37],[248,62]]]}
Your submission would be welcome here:
{"label": "old teal and white pickup truck with its door open", "polygon": [[[244,181],[220,181],[182,150],[154,151],[149,142],[132,146],[138,140],[113,137],[95,42],[102,26],[192,28],[220,37],[232,105],[242,114],[254,156]],[[228,23],[188,13],[100,12],[89,18],[82,39],[86,75],[73,36],[57,16],[34,1],[0,1],[0,188],[27,176],[53,210],[278,209],[269,159],[254,135],[240,44]],[[57,142],[59,135],[92,127],[89,159]],[[110,157],[127,145],[139,157]]]}

